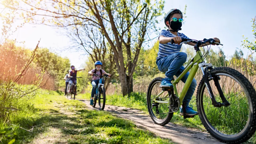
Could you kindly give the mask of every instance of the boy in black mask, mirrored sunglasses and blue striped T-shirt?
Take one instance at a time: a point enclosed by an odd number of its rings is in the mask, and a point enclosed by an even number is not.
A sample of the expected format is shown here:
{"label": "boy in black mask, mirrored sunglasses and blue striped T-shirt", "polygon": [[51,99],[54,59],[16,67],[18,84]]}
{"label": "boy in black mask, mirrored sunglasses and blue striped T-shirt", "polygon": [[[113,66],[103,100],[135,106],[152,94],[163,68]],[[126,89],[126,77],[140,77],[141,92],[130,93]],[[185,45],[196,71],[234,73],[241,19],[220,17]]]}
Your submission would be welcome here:
{"label": "boy in black mask, mirrored sunglasses and blue striped T-shirt", "polygon": [[[182,65],[187,60],[187,54],[179,52],[181,50],[181,38],[189,39],[183,33],[178,33],[181,30],[182,21],[183,21],[182,12],[178,9],[171,9],[165,15],[165,25],[169,28],[167,30],[162,30],[159,34],[159,51],[157,53],[158,57],[156,64],[159,71],[165,73],[165,78],[162,79],[161,88],[171,88],[173,87],[171,79],[173,76],[179,76],[181,72],[185,69]],[[174,44],[171,43],[171,39],[174,40]],[[215,42],[220,42],[218,38],[214,38]],[[194,46],[192,42],[188,42],[188,45]],[[205,43],[202,46],[210,45],[210,43]],[[215,44],[213,44],[215,45]],[[181,79],[182,82],[186,82],[189,76],[189,72]],[[197,115],[198,112],[192,109],[192,106],[189,105],[189,102],[194,94],[197,82],[193,79],[183,102],[186,106],[186,115]],[[191,107],[190,107],[191,106]],[[183,115],[183,107],[180,108],[180,115]]]}

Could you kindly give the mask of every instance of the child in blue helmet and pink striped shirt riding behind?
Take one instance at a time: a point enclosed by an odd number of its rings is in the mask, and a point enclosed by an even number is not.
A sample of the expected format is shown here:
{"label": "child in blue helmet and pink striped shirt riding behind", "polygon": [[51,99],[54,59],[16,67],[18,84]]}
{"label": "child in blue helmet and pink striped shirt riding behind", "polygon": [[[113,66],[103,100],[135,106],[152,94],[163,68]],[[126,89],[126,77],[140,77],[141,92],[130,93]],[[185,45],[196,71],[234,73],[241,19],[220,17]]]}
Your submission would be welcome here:
{"label": "child in blue helmet and pink striped shirt riding behind", "polygon": [[[97,61],[94,63],[95,69],[89,71],[88,73],[93,76],[93,74],[97,74],[97,75],[104,75],[107,74],[109,75],[109,77],[111,77],[111,74],[106,73],[104,70],[101,69],[102,66],[102,62],[101,61]],[[97,89],[97,85],[99,84],[99,77],[92,77],[92,81],[91,81],[91,85],[93,86],[92,90],[91,90],[91,100],[90,100],[90,105],[93,105],[93,97],[96,94],[96,89]],[[104,78],[102,78],[102,83],[104,84]]]}

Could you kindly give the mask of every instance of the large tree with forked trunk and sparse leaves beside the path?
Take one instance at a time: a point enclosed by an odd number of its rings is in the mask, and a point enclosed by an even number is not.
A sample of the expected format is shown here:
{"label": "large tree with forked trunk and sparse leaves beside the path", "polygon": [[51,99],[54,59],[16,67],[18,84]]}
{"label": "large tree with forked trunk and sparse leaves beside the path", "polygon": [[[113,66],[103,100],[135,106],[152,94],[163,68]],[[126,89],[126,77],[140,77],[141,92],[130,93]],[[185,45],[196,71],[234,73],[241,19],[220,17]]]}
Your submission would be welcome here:
{"label": "large tree with forked trunk and sparse leaves beside the path", "polygon": [[[90,25],[99,28],[107,39],[121,81],[122,94],[133,91],[133,73],[146,34],[156,30],[157,17],[162,15],[161,0],[22,0],[18,9],[33,20],[59,27]],[[24,14],[23,14],[24,15]],[[25,18],[25,17],[24,17]],[[123,45],[128,62],[125,65]]]}

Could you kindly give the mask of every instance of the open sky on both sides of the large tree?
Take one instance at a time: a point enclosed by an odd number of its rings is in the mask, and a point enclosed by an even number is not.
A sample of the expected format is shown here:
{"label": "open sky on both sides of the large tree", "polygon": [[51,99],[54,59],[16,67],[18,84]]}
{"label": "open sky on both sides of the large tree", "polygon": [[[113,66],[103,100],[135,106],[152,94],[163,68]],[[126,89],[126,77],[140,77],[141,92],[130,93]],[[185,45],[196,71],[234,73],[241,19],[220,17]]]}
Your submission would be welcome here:
{"label": "open sky on both sides of the large tree", "polygon": [[[256,1],[172,1],[166,0],[165,12],[177,8],[184,11],[187,5],[185,24],[182,26],[181,33],[191,39],[202,40],[203,38],[217,37],[224,45],[222,47],[225,55],[234,54],[235,48],[241,48],[246,56],[247,49],[241,47],[242,35],[253,39],[251,19],[256,15]],[[165,29],[163,17],[159,26]],[[1,26],[1,24],[0,24]],[[1,30],[0,30],[1,32]],[[62,57],[68,57],[72,65],[81,66],[87,59],[87,56],[81,55],[75,50],[63,51],[64,47],[71,45],[69,38],[63,35],[62,29],[57,29],[45,25],[26,24],[19,29],[12,38],[17,41],[26,41],[24,45],[27,48],[34,48],[37,41],[41,38],[40,47],[47,47],[51,51],[58,53]],[[156,34],[150,35],[150,38],[156,37]],[[156,39],[152,40],[154,43]],[[151,42],[148,43],[151,46]],[[147,47],[145,47],[147,48]],[[212,47],[218,50],[217,46]]]}

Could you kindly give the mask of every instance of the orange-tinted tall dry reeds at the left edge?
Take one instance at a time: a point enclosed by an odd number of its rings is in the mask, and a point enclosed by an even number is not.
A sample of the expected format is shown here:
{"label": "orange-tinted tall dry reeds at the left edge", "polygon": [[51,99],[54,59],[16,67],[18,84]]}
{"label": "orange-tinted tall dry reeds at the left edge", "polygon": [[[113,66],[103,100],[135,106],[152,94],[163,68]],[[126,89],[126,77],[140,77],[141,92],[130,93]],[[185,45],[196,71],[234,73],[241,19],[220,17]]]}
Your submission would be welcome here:
{"label": "orange-tinted tall dry reeds at the left edge", "polygon": [[[41,82],[46,83],[43,88],[54,90],[54,78],[48,79],[50,74],[47,72],[42,75],[42,70],[31,59],[31,53],[33,54],[33,51],[16,47],[14,43],[2,45],[0,47],[0,80],[13,80],[18,84],[33,85],[38,82],[38,79],[43,79]],[[30,62],[29,65],[28,62]]]}

